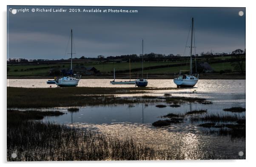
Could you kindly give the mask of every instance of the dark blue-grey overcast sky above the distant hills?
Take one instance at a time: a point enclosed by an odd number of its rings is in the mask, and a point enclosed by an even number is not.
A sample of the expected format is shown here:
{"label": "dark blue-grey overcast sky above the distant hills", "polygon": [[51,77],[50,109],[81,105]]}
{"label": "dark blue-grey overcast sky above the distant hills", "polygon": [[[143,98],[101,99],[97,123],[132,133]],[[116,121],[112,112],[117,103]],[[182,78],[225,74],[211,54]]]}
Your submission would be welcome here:
{"label": "dark blue-grey overcast sky above the distant hills", "polygon": [[[12,14],[9,8],[28,8],[29,12]],[[111,8],[138,13],[40,13],[31,12],[32,8]],[[245,8],[8,6],[7,11],[7,58],[67,59],[71,29],[76,57],[139,55],[142,38],[144,53],[183,55],[191,17],[198,54],[245,49]],[[239,11],[244,15],[239,16]]]}

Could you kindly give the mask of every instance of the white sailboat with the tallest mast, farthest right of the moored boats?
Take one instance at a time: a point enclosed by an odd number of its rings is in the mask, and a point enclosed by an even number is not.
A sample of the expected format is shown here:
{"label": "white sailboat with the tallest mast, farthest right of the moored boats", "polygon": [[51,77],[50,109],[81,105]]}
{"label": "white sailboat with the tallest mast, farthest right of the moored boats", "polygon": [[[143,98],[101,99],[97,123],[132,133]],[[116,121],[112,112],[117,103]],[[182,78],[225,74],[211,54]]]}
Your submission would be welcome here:
{"label": "white sailboat with the tallest mast, farthest right of the moored boats", "polygon": [[[177,78],[174,78],[174,83],[177,85],[177,88],[192,88],[196,85],[199,74],[193,74],[192,70],[192,45],[193,45],[193,28],[194,28],[194,19],[192,17],[192,31],[191,31],[191,46],[190,46],[190,70],[180,70]],[[189,74],[186,74],[188,73]]]}

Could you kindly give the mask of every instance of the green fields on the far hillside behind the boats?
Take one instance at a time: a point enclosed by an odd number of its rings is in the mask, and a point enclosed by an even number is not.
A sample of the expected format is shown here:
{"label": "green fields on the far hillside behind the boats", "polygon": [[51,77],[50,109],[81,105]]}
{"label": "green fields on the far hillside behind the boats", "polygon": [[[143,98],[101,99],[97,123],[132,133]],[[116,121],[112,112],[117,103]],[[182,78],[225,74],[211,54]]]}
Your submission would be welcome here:
{"label": "green fields on the far hillside behind the boats", "polygon": [[[223,57],[210,57],[197,58],[197,62],[208,62],[209,65],[213,68],[214,71],[236,71],[230,62],[218,63],[219,60],[229,61],[231,60],[231,56],[223,56]],[[194,62],[193,62],[194,63]],[[175,61],[152,61],[152,62],[144,62],[144,68],[154,67],[154,66],[166,66],[166,65],[174,65],[181,64],[181,66],[175,67],[158,67],[153,69],[144,69],[144,74],[177,74],[179,70],[188,70],[189,69],[189,59],[184,59],[183,57],[177,59]],[[183,64],[183,65],[182,65]],[[184,66],[184,64],[188,64]],[[112,75],[113,69],[115,71],[129,70],[128,62],[100,62],[100,61],[86,61],[86,60],[74,60],[73,67],[76,65],[83,65],[85,67],[94,67],[100,71],[101,74]],[[132,62],[131,69],[139,69],[142,67],[142,62]],[[245,67],[245,61],[244,61]],[[7,68],[9,68],[8,77],[47,77],[48,71],[51,68],[70,68],[70,61],[66,60],[64,63],[55,63],[55,64],[8,64]],[[245,69],[245,68],[244,68]],[[125,72],[127,74],[128,72]],[[137,75],[140,71],[132,71],[132,74]],[[119,73],[120,74],[120,73]]]}

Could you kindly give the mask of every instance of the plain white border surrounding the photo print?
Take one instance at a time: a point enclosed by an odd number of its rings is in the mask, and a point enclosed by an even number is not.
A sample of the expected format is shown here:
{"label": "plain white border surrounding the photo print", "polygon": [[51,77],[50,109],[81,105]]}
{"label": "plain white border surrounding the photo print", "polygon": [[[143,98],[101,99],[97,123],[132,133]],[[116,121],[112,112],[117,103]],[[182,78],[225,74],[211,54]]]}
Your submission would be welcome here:
{"label": "plain white border surrounding the photo print", "polygon": [[[1,96],[1,149],[0,149],[0,162],[3,163],[3,166],[55,166],[61,165],[65,167],[69,167],[71,165],[77,166],[120,166],[122,167],[131,167],[131,165],[141,166],[207,166],[207,167],[216,167],[218,165],[232,165],[232,167],[242,167],[245,165],[254,164],[255,159],[255,129],[253,124],[255,121],[255,113],[256,110],[253,107],[253,102],[255,98],[255,17],[256,10],[255,5],[252,3],[253,1],[245,1],[245,0],[232,0],[232,1],[224,1],[224,0],[175,0],[175,1],[165,1],[165,0],[1,0],[0,8],[1,8],[1,67],[2,67],[2,75],[3,81],[0,82],[2,89]],[[124,162],[32,162],[32,163],[7,163],[6,162],[6,5],[94,5],[94,6],[198,6],[198,7],[246,7],[246,52],[247,52],[247,60],[246,60],[246,117],[247,117],[247,133],[246,133],[246,160],[220,160],[220,161],[124,161]],[[253,52],[254,51],[254,52]],[[253,71],[254,70],[254,71]],[[4,72],[3,72],[4,71]]]}

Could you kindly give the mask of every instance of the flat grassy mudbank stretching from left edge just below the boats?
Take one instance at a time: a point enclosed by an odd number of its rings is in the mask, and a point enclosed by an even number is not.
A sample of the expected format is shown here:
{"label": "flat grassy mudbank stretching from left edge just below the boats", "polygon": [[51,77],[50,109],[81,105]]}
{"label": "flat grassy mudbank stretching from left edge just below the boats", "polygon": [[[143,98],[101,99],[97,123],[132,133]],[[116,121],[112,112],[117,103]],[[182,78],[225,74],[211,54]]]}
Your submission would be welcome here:
{"label": "flat grassy mudbank stretching from left edge just below the boats", "polygon": [[[156,88],[13,88],[7,87],[7,107],[74,107],[111,104],[165,102],[168,104],[196,102],[205,99],[185,97],[134,96],[117,97],[113,94],[145,93]],[[162,90],[166,90],[162,88]],[[104,95],[102,95],[104,94]]]}

